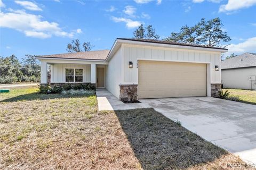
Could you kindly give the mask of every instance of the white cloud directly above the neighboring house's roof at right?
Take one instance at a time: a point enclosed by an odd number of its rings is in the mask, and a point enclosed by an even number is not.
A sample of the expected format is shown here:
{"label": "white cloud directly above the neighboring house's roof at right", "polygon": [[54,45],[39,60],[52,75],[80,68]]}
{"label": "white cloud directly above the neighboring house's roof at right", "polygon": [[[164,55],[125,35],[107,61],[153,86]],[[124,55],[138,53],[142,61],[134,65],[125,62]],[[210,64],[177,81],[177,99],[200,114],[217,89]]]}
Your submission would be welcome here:
{"label": "white cloud directly above the neighboring house's roof at right", "polygon": [[243,43],[230,44],[227,46],[228,52],[225,56],[232,53],[242,54],[245,52],[256,52],[256,37],[246,39]]}

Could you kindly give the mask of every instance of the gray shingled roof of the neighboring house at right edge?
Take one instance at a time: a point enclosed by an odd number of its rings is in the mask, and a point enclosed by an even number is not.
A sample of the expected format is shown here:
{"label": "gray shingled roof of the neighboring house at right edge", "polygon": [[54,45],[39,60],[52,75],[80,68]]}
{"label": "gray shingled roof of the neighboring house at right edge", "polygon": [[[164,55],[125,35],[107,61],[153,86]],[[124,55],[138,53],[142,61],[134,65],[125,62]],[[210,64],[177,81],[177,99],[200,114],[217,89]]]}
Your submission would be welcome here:
{"label": "gray shingled roof of the neighboring house at right edge", "polygon": [[256,66],[256,54],[244,53],[221,62],[221,69],[235,69]]}

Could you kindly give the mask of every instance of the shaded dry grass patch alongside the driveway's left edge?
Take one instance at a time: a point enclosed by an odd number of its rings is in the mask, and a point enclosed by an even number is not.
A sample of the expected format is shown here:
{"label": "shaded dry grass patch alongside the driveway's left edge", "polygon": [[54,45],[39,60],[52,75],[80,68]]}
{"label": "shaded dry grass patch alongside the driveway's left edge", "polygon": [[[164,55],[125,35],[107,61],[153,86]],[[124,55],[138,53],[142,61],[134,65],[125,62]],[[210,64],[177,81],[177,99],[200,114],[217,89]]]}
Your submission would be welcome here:
{"label": "shaded dry grass patch alongside the driveway's left edge", "polygon": [[143,169],[232,169],[228,164],[244,164],[153,108],[116,115]]}

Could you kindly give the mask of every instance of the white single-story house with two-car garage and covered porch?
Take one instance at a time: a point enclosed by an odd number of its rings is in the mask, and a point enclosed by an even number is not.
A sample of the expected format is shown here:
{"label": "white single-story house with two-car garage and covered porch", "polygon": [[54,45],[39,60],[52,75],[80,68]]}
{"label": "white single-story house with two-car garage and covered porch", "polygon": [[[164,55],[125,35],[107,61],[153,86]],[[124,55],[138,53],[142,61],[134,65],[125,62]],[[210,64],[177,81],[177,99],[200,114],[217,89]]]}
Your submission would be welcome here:
{"label": "white single-story house with two-car garage and covered porch", "polygon": [[37,56],[41,84],[92,83],[122,101],[138,98],[217,96],[225,48],[160,40],[117,38],[110,50]]}

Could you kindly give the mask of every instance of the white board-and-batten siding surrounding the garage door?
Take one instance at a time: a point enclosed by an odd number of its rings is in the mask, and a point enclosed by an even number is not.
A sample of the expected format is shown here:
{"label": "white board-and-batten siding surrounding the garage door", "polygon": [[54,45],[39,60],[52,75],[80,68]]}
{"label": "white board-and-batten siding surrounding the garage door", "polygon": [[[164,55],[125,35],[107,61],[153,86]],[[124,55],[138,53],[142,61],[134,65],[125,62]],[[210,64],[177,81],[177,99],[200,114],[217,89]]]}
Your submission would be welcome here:
{"label": "white board-and-batten siding surrounding the garage door", "polygon": [[[220,52],[209,52],[206,49],[175,49],[127,44],[123,44],[122,48],[124,50],[124,79],[122,83],[124,84],[138,83],[137,60],[210,63],[210,83],[221,83],[221,71],[215,71],[215,65],[220,66]],[[129,61],[133,62],[133,69],[129,69]]]}

